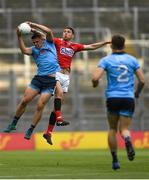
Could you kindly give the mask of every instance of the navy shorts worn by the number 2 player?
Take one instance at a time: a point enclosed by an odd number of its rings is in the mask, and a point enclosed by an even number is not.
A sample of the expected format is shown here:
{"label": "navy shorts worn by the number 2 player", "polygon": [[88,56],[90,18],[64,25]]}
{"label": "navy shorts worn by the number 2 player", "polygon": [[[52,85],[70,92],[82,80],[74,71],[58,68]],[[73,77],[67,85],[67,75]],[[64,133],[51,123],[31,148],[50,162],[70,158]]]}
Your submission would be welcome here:
{"label": "navy shorts worn by the number 2 player", "polygon": [[132,117],[135,110],[133,98],[108,98],[106,101],[108,113]]}

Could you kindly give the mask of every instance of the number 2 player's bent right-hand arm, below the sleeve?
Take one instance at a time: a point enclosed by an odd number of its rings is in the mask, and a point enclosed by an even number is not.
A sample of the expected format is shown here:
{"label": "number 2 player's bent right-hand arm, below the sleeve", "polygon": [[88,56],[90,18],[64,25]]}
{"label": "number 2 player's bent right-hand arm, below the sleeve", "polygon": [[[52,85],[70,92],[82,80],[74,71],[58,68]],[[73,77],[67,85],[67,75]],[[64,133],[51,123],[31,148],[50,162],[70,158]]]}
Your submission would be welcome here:
{"label": "number 2 player's bent right-hand arm, below the sleeve", "polygon": [[137,89],[135,91],[135,97],[136,98],[139,98],[139,95],[145,85],[145,79],[144,79],[144,75],[143,75],[143,72],[141,70],[141,68],[139,68],[137,71],[136,71],[136,76],[137,76],[137,79],[138,79],[138,85],[137,85]]}

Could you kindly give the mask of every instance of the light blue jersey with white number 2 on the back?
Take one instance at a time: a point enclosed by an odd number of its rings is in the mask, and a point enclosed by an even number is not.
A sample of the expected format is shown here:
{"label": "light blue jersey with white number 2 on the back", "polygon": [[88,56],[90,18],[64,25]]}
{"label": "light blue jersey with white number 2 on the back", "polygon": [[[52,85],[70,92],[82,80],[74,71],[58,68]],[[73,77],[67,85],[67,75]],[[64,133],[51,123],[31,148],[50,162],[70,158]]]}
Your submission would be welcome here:
{"label": "light blue jersey with white number 2 on the back", "polygon": [[140,68],[135,57],[127,53],[112,53],[102,58],[98,67],[107,72],[107,98],[134,98],[134,73]]}

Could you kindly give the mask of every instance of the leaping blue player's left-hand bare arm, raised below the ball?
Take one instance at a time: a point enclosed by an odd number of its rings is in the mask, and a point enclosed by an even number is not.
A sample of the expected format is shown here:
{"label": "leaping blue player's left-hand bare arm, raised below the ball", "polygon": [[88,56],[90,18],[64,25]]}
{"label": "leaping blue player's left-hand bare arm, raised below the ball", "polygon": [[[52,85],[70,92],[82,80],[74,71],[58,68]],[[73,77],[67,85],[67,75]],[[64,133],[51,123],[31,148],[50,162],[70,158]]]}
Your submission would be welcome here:
{"label": "leaping blue player's left-hand bare arm, raised below the ball", "polygon": [[21,36],[21,32],[20,32],[19,28],[16,29],[16,32],[17,32],[17,37],[18,37],[18,42],[19,42],[19,47],[20,47],[21,52],[23,54],[26,54],[26,55],[31,55],[32,54],[32,49],[27,48],[25,46],[25,43],[23,41],[23,38]]}

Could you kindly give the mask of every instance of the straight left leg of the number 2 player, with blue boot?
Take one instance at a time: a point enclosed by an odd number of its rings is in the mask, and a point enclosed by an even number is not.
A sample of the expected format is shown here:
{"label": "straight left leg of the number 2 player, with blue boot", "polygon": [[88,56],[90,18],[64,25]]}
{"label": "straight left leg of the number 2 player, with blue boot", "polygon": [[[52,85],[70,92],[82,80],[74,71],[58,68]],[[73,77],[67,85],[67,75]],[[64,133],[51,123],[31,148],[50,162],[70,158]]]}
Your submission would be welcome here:
{"label": "straight left leg of the number 2 player, with blue boot", "polygon": [[120,168],[118,157],[117,157],[117,125],[119,116],[108,114],[109,132],[108,132],[108,144],[112,155],[112,168],[117,170]]}

